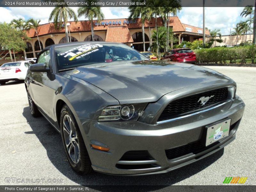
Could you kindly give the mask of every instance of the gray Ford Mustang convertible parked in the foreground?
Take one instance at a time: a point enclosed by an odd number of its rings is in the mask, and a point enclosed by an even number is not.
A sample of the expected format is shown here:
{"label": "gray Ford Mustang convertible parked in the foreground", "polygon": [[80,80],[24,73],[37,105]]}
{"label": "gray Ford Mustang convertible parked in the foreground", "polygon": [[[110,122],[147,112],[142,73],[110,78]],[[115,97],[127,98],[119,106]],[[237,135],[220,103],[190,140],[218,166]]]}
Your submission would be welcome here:
{"label": "gray Ford Mustang convertible parked in the foreground", "polygon": [[245,106],[227,76],[149,61],[118,43],[46,47],[25,86],[32,116],[60,132],[79,174],[154,174],[193,163],[235,139]]}

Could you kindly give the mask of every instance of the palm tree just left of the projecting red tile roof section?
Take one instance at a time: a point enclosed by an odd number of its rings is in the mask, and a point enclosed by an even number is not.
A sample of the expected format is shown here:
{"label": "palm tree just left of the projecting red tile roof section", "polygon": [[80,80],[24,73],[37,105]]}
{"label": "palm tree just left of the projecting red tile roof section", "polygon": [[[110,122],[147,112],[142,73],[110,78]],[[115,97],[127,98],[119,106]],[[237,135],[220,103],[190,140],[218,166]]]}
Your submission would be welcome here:
{"label": "palm tree just left of the projecting red tile roof section", "polygon": [[[86,0],[89,5],[91,5],[91,2],[98,2],[98,0]],[[78,17],[81,17],[82,15],[85,16],[85,18],[88,18],[91,22],[91,31],[92,31],[92,41],[94,41],[94,30],[93,30],[93,18],[96,18],[98,21],[104,19],[104,14],[101,11],[100,7],[79,7],[77,10]]]}

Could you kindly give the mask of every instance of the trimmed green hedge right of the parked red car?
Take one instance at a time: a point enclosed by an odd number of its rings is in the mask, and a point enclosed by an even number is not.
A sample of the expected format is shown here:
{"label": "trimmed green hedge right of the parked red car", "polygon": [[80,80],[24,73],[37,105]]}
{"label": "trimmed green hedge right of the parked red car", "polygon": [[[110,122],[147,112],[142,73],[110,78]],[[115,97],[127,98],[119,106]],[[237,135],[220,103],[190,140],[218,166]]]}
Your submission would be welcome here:
{"label": "trimmed green hedge right of the parked red car", "polygon": [[194,50],[199,63],[252,63],[256,61],[256,46],[213,47]]}

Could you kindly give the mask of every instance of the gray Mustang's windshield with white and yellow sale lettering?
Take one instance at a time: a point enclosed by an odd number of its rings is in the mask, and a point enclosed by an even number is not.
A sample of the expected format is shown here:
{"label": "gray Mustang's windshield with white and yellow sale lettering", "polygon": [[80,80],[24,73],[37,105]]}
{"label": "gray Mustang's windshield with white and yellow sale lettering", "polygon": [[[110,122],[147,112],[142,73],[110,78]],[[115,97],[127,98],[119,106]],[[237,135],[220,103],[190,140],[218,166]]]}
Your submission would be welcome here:
{"label": "gray Mustang's windshield with white and yellow sale lettering", "polygon": [[148,60],[140,52],[125,44],[71,44],[55,47],[54,51],[58,70],[102,62]]}

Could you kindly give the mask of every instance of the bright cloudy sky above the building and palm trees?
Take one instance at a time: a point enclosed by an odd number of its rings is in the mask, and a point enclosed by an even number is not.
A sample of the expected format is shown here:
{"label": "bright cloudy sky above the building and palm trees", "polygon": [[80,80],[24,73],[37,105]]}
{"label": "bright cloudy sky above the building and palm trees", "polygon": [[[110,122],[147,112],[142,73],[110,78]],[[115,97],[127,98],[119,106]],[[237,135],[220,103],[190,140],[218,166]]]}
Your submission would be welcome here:
{"label": "bright cloudy sky above the building and palm trees", "polygon": [[[10,22],[12,19],[40,19],[40,24],[48,22],[49,15],[53,7],[0,7],[0,22]],[[76,7],[72,7],[76,11]],[[127,7],[120,8],[101,8],[106,19],[127,18],[129,11]],[[240,17],[243,7],[206,7],[205,8],[205,27],[209,29],[220,29],[222,35],[229,35],[230,28],[233,30],[236,23],[245,18]],[[178,16],[182,23],[203,27],[203,8],[202,7],[183,7]],[[84,17],[79,20],[85,20]]]}

